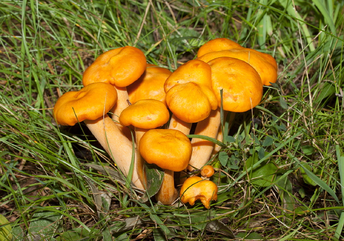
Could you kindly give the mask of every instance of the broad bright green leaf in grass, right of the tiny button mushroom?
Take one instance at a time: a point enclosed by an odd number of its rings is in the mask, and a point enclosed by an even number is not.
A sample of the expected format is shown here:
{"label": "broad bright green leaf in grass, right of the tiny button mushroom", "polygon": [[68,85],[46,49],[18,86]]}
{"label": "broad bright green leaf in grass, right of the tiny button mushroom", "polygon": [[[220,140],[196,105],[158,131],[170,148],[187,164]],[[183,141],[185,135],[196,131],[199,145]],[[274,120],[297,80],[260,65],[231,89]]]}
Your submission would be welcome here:
{"label": "broad bright green leaf in grass, right of the tiny button mushroom", "polygon": [[[268,153],[266,153],[268,154]],[[251,171],[249,171],[249,177],[252,180],[252,184],[261,186],[261,187],[267,187],[270,186],[271,183],[275,180],[275,173],[278,170],[276,165],[273,162],[261,162],[258,166],[253,166],[258,163],[259,157],[258,153],[255,152],[254,155],[250,156],[246,160],[246,168],[252,168]]]}

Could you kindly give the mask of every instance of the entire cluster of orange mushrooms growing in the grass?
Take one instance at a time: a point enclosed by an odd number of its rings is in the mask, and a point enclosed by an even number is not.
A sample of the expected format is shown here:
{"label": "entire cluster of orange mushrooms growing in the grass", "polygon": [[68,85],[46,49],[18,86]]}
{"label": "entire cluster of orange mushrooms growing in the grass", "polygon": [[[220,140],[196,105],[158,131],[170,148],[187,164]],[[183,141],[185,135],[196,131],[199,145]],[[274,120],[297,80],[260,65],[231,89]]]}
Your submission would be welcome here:
{"label": "entire cluster of orange mushrooms growing in the grass", "polygon": [[[171,205],[180,196],[183,203],[201,200],[209,208],[218,189],[209,180],[214,171],[206,164],[221,148],[199,138],[190,141],[192,123],[197,123],[194,134],[222,141],[221,105],[226,113],[248,111],[261,101],[263,85],[276,80],[272,56],[227,38],[208,41],[197,59],[174,72],[146,63],[140,49],[126,46],[100,55],[84,72],[84,88],[58,98],[54,116],[61,125],[84,121],[125,176],[134,150],[131,181],[139,189],[145,190],[150,181],[145,161],[164,169],[155,194],[162,204]],[[135,130],[135,142],[128,127]],[[180,179],[178,195],[174,172],[195,169],[202,169],[203,178]]]}

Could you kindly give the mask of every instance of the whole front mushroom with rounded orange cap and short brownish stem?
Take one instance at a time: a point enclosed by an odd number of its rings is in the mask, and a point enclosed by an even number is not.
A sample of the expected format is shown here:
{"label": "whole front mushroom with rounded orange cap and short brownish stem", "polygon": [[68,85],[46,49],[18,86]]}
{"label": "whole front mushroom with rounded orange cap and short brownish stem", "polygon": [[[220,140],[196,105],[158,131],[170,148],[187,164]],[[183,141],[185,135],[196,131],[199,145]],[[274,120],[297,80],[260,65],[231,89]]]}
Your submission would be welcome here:
{"label": "whole front mushroom with rounded orange cap and short brownish stem", "polygon": [[163,183],[155,198],[164,205],[171,205],[178,196],[173,173],[184,170],[191,158],[189,138],[173,129],[148,130],[141,138],[140,153],[146,162],[165,169]]}

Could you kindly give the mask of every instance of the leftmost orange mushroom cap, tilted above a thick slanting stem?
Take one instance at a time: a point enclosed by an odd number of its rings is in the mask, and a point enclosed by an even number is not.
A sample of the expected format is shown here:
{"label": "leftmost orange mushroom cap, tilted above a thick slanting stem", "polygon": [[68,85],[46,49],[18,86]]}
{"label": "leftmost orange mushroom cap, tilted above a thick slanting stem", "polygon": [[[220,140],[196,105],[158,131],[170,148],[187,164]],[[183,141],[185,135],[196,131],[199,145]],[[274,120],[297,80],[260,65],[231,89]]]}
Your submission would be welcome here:
{"label": "leftmost orange mushroom cap, tilted above a thick slanting stem", "polygon": [[75,125],[96,120],[108,113],[117,101],[117,91],[107,83],[93,83],[79,91],[62,94],[54,107],[57,124]]}

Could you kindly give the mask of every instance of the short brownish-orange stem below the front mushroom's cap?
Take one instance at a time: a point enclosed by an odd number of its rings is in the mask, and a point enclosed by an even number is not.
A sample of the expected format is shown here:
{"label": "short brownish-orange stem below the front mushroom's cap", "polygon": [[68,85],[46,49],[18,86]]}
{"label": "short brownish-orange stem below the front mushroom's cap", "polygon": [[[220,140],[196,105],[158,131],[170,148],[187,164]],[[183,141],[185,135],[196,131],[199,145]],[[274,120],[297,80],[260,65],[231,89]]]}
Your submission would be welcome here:
{"label": "short brownish-orange stem below the front mushroom's cap", "polygon": [[163,205],[171,205],[178,197],[178,192],[174,187],[173,175],[173,171],[165,169],[163,183],[157,194],[155,194],[155,199]]}

